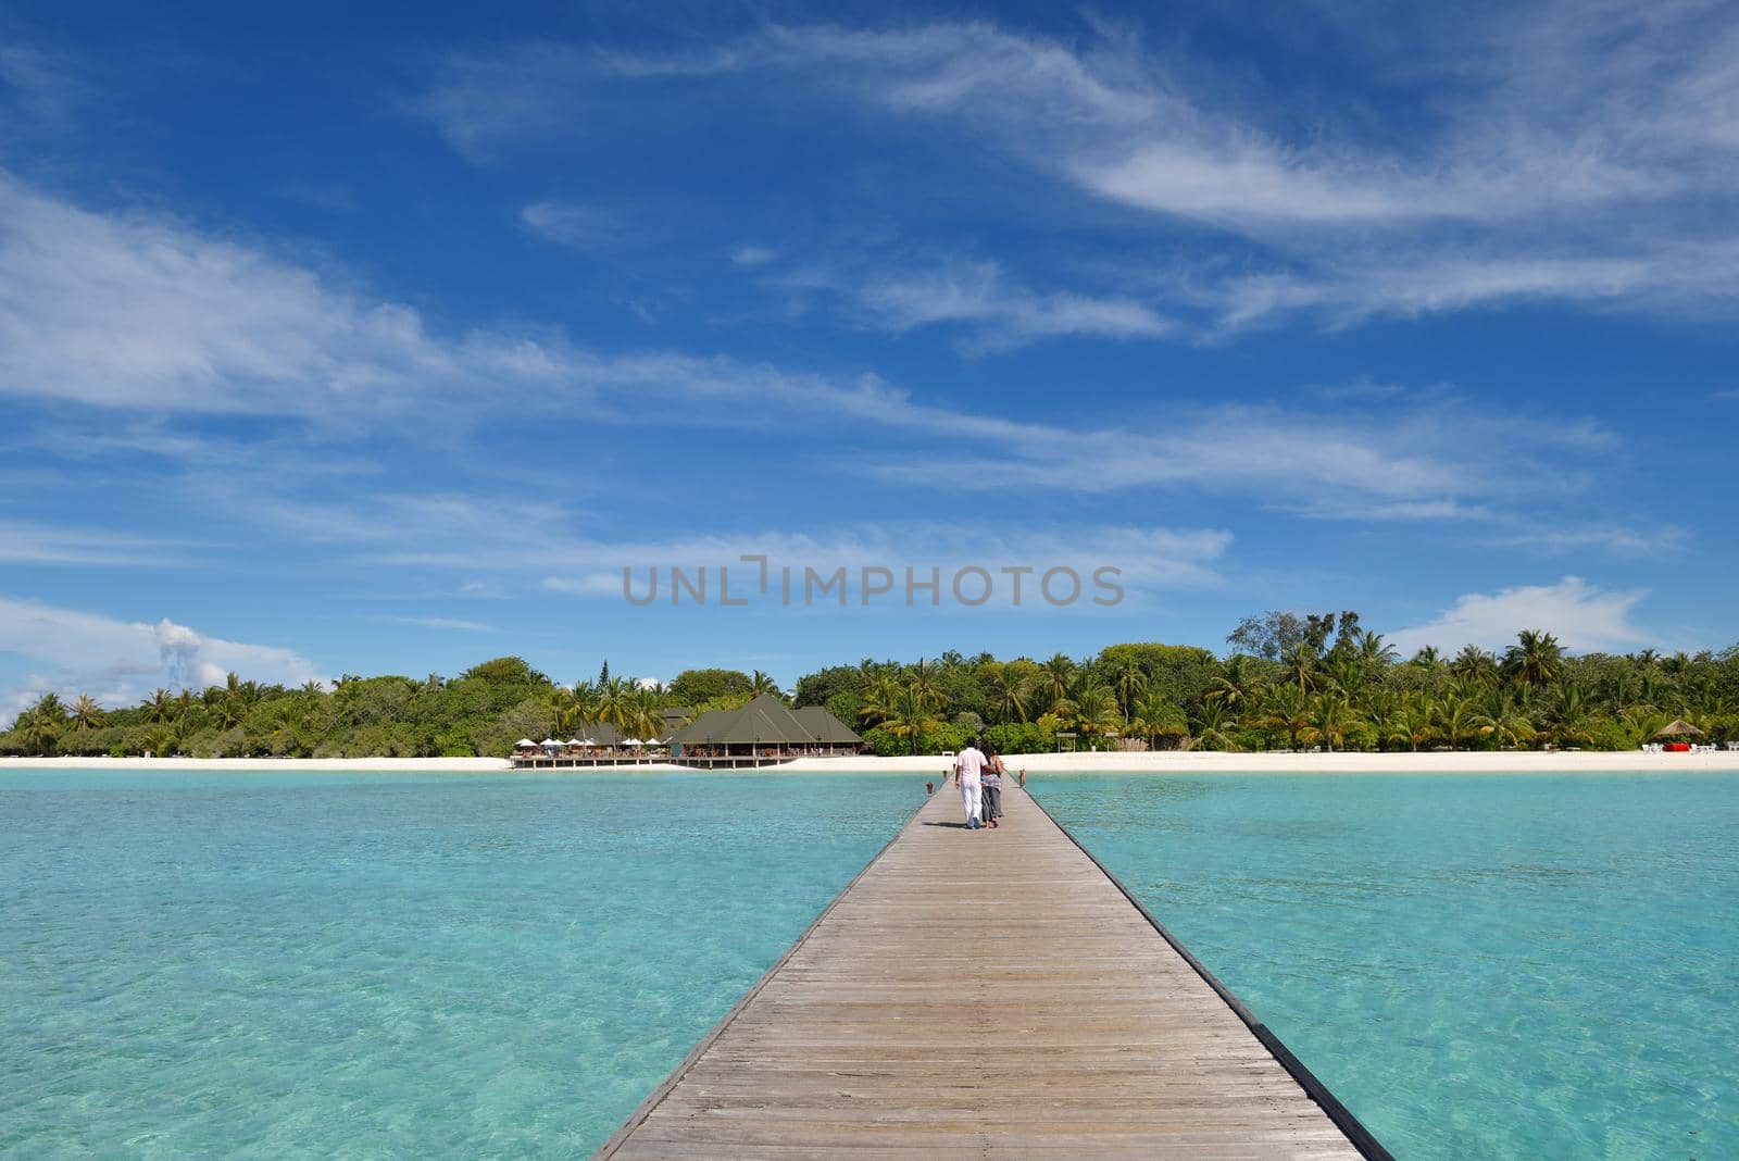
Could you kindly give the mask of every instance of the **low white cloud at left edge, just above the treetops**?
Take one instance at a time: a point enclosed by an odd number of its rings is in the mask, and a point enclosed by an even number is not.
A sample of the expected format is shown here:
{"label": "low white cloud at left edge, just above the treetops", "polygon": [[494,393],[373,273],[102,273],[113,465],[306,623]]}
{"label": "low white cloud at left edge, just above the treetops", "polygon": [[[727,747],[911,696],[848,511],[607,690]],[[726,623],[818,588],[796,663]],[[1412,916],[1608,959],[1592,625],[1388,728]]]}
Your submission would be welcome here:
{"label": "low white cloud at left edge, just above the treetops", "polygon": [[0,598],[0,652],[45,667],[30,688],[12,692],[14,702],[57,692],[125,706],[157,687],[221,685],[231,671],[282,685],[318,680],[313,662],[294,650],[205,636],[167,617],[157,624],[117,620],[12,598]]}

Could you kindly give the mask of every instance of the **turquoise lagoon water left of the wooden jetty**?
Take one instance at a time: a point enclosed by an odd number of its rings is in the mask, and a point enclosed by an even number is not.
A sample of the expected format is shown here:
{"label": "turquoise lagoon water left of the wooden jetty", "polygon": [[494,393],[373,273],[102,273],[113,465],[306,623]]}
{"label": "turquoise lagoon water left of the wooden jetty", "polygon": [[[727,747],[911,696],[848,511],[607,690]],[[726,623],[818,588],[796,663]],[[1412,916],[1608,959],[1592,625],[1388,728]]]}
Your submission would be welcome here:
{"label": "turquoise lagoon water left of the wooden jetty", "polygon": [[584,1154],[922,796],[0,773],[0,1154]]}

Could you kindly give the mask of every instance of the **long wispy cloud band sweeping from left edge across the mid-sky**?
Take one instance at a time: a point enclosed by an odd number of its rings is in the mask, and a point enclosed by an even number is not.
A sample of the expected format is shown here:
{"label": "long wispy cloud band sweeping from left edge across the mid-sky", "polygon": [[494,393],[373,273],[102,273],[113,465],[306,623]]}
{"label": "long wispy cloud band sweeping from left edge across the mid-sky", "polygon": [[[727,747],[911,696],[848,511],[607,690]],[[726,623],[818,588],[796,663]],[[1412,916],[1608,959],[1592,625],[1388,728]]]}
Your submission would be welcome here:
{"label": "long wispy cloud band sweeping from left edge across the mid-sky", "polygon": [[[873,374],[821,375],[661,351],[600,355],[553,330],[442,335],[402,304],[183,224],[96,214],[16,182],[0,184],[0,209],[17,210],[0,214],[0,393],[130,415],[280,415],[348,438],[381,438],[423,414],[440,414],[440,431],[504,410],[563,422],[584,414],[588,428],[643,426],[656,414],[670,428],[875,440],[875,454],[836,468],[906,485],[1209,488],[1285,495],[1297,508],[1410,506],[1395,514],[1428,514],[1421,506],[1433,504],[1466,514],[1464,506],[1501,494],[1574,492],[1584,483],[1576,462],[1616,445],[1588,421],[1494,412],[1449,391],[1343,405],[1172,407],[1151,421],[1127,408],[1097,415],[1071,405],[1066,415],[1021,419],[918,398]],[[1139,311],[1033,299],[996,278],[904,297],[885,292],[882,301],[913,325],[941,315],[976,315],[1028,334],[1155,325]],[[165,455],[205,454],[202,436],[139,422],[103,438],[150,441]],[[436,435],[419,428],[419,438]],[[889,436],[901,452],[887,454]],[[936,454],[960,441],[983,454],[969,462]],[[233,469],[245,469],[245,448],[231,452]],[[322,525],[303,532],[332,535]]]}

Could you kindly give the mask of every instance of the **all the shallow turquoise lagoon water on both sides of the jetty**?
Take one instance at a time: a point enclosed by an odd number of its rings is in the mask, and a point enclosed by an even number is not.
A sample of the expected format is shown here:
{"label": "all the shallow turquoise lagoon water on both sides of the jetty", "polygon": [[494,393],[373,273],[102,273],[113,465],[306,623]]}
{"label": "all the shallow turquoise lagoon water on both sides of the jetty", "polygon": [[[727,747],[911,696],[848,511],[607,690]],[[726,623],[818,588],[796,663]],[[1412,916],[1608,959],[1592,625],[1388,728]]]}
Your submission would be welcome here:
{"label": "all the shallow turquoise lagoon water on both sides of the jetty", "polygon": [[[584,1154],[922,779],[0,773],[0,1154]],[[1396,1156],[1739,1156],[1739,780],[1031,789]]]}

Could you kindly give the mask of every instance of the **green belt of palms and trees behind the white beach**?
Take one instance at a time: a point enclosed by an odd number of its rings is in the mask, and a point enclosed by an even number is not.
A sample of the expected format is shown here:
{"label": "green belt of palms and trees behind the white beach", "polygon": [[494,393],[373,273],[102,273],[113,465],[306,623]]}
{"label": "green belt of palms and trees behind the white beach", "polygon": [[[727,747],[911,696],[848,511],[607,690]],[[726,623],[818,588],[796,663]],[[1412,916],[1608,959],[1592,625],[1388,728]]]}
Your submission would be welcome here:
{"label": "green belt of palms and trees behind the white beach", "polygon": [[[1271,643],[1275,657],[1221,660],[1153,641],[1111,645],[1085,662],[948,652],[830,666],[798,680],[795,702],[826,706],[880,754],[958,751],[976,735],[1005,754],[1049,753],[1057,732],[1076,733],[1080,749],[1113,746],[1116,735],[1235,751],[1622,751],[1673,718],[1709,742],[1739,733],[1739,647],[1567,655],[1551,634],[1529,631],[1501,655],[1469,647],[1403,660],[1356,614],[1254,620],[1240,647],[1268,653]],[[520,737],[569,737],[596,721],[647,735],[663,728],[666,706],[736,709],[755,688],[776,683],[762,673],[689,669],[664,690],[623,680],[565,688],[520,657],[487,660],[452,681],[344,676],[332,690],[230,674],[205,690],[155,690],[113,709],[47,693],[0,732],[0,754],[503,756]]]}

